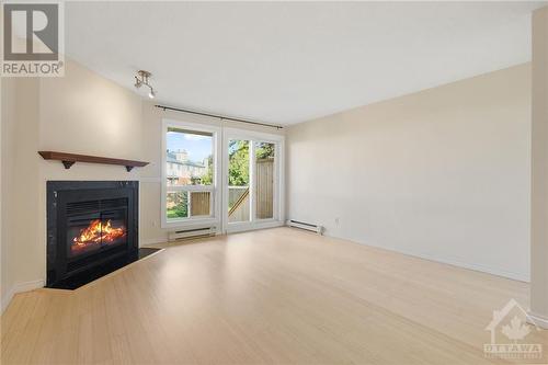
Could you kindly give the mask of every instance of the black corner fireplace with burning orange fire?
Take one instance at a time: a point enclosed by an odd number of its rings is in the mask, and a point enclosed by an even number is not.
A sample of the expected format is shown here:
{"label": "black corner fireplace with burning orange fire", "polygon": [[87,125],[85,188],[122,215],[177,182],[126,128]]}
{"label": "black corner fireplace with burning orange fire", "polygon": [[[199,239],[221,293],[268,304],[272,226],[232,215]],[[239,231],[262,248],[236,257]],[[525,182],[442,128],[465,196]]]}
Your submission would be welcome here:
{"label": "black corner fireplace with burning orange fire", "polygon": [[138,182],[47,182],[47,287],[76,288],[138,259]]}

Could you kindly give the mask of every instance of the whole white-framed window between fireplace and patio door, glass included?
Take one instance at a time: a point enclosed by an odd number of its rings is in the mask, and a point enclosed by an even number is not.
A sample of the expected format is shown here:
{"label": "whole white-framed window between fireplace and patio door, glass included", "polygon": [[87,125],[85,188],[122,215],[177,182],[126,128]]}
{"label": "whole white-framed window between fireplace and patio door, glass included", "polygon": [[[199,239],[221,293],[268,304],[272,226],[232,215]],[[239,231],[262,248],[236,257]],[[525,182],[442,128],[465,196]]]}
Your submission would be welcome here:
{"label": "whole white-framed window between fireplace and patio door, glass included", "polygon": [[217,132],[164,122],[162,226],[216,218]]}

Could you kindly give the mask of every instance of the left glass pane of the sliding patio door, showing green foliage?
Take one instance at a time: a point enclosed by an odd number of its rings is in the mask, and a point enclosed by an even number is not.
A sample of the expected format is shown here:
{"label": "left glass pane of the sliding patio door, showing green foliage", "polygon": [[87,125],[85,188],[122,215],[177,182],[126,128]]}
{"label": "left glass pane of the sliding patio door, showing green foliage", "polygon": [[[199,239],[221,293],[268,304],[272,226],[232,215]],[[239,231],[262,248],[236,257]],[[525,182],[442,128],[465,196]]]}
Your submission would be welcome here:
{"label": "left glass pane of the sliding patio door, showing green foliage", "polygon": [[228,142],[228,221],[250,220],[249,140]]}

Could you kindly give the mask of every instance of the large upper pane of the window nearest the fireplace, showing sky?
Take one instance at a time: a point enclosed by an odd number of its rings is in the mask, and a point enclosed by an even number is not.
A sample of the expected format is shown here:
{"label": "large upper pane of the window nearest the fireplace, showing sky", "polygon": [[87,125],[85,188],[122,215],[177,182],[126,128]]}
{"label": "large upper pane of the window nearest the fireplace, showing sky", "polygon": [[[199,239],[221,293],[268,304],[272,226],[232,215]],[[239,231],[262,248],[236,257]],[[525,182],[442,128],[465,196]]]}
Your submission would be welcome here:
{"label": "large upper pane of the window nearest the fireplace, showing sky", "polygon": [[167,184],[213,184],[213,134],[168,128]]}

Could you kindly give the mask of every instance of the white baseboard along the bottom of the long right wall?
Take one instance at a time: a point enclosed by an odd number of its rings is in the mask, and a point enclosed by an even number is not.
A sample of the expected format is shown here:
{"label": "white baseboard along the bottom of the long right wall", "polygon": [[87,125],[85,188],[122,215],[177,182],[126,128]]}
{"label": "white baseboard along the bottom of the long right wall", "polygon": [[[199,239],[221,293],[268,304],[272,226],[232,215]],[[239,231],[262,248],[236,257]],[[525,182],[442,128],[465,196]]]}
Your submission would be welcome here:
{"label": "white baseboard along the bottom of the long right wall", "polygon": [[377,248],[377,249],[383,249],[383,250],[387,250],[387,251],[402,253],[402,254],[407,254],[407,255],[410,255],[410,256],[414,256],[414,258],[419,258],[419,259],[424,259],[424,260],[429,260],[429,261],[434,261],[434,262],[438,262],[438,263],[444,263],[444,264],[448,264],[448,265],[453,265],[453,266],[457,266],[457,267],[463,267],[463,269],[479,271],[479,272],[482,272],[482,273],[487,273],[487,274],[491,274],[491,275],[496,275],[496,276],[502,276],[502,277],[511,278],[511,280],[514,280],[514,281],[520,281],[520,282],[525,282],[525,283],[529,283],[530,282],[530,275],[529,275],[529,273],[512,272],[512,271],[506,271],[506,270],[502,270],[502,269],[499,269],[499,267],[487,266],[487,265],[475,263],[475,262],[465,262],[465,261],[456,259],[456,258],[435,255],[435,254],[431,254],[431,253],[412,251],[412,250],[403,250],[403,249],[400,249],[400,248],[385,247],[385,246],[380,246],[380,244],[372,244],[369,242],[367,242],[367,243],[366,242],[361,242],[361,241],[353,240],[351,238],[333,236],[333,235],[330,235],[329,232],[327,232],[324,235],[328,236],[328,237],[334,237],[334,238],[345,239],[345,240],[349,240],[349,241],[352,241],[352,242],[356,242],[356,243],[359,243],[359,244],[365,244],[365,246],[374,247],[374,248]]}

